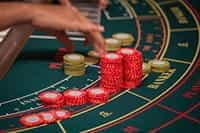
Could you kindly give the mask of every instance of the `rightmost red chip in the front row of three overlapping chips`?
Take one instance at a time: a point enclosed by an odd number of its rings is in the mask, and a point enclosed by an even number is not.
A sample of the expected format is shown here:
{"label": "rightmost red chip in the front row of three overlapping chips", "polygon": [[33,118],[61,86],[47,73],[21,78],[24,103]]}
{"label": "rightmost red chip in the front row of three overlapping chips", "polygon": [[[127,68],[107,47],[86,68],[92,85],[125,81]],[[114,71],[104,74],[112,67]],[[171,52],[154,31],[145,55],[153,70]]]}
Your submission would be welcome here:
{"label": "rightmost red chip in the front row of three overlapping chips", "polygon": [[52,113],[55,114],[57,120],[65,120],[71,117],[71,112],[63,109],[52,110]]}

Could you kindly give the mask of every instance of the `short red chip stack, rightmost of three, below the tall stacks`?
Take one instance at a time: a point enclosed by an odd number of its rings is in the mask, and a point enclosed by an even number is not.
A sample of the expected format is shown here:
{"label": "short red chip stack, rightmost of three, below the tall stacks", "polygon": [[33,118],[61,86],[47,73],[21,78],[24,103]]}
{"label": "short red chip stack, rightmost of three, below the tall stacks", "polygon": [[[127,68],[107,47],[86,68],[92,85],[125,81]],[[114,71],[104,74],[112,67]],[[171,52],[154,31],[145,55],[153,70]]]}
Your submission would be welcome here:
{"label": "short red chip stack, rightmost of three, below the tall stacks", "polygon": [[109,93],[103,88],[90,88],[87,91],[88,101],[90,103],[105,103],[109,99]]}

